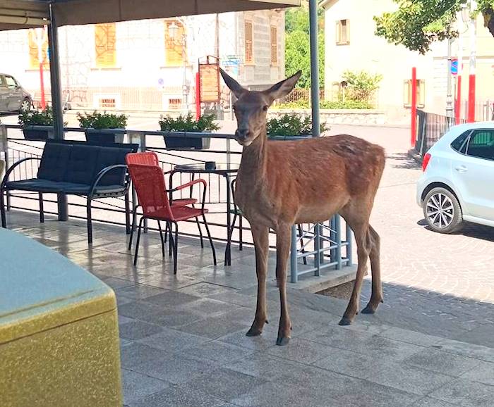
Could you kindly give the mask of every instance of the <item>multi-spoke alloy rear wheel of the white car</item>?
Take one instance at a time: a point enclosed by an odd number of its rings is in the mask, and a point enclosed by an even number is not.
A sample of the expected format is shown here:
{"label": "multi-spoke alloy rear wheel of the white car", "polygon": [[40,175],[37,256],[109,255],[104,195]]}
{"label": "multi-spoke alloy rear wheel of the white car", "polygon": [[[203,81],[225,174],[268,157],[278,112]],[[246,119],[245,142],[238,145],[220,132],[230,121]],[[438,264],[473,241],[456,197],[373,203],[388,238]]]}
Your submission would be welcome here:
{"label": "multi-spoke alloy rear wheel of the white car", "polygon": [[462,208],[456,196],[445,188],[433,188],[423,201],[423,216],[434,232],[452,233],[462,225]]}

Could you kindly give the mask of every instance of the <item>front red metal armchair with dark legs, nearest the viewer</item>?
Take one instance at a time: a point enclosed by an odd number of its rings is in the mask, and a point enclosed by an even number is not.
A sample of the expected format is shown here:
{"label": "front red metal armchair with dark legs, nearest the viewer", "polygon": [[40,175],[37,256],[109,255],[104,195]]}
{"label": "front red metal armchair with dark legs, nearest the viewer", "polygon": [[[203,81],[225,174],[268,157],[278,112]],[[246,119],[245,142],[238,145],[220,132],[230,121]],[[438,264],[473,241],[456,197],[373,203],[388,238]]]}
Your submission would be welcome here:
{"label": "front red metal armchair with dark legs, nearest the viewer", "polygon": [[[138,153],[139,154],[139,153]],[[140,153],[140,154],[152,154],[152,153]],[[191,206],[181,205],[176,206],[170,203],[166,185],[164,182],[164,173],[162,168],[157,164],[156,161],[147,161],[146,164],[135,163],[137,154],[128,154],[127,165],[128,172],[131,175],[131,180],[137,192],[139,206],[143,208],[143,216],[139,220],[137,241],[135,242],[135,255],[134,255],[134,265],[137,264],[138,252],[139,252],[139,242],[140,242],[140,232],[143,227],[143,221],[145,219],[164,221],[167,223],[167,227],[170,230],[170,252],[173,249],[174,256],[174,274],[176,274],[176,261],[177,261],[177,251],[178,251],[178,238],[179,238],[179,222],[182,220],[188,220],[195,218],[198,221],[198,217],[202,216],[204,225],[206,227],[207,237],[209,238],[213,261],[216,265],[216,252],[215,246],[212,244],[211,234],[207,221],[205,218],[205,213],[207,209],[204,208],[206,188],[207,183],[205,180],[197,179],[186,184],[180,185],[171,190],[171,192],[176,192],[181,189],[191,188],[195,184],[203,184],[203,201],[201,203],[201,208],[192,208]],[[130,157],[129,157],[130,156]],[[139,158],[137,158],[139,159]],[[152,160],[150,156],[143,157],[143,161]],[[134,162],[133,162],[134,161]],[[173,231],[172,225],[175,225],[174,237],[171,233]],[[160,237],[162,241],[162,250],[164,252],[164,239],[161,232],[161,226],[159,226]]]}

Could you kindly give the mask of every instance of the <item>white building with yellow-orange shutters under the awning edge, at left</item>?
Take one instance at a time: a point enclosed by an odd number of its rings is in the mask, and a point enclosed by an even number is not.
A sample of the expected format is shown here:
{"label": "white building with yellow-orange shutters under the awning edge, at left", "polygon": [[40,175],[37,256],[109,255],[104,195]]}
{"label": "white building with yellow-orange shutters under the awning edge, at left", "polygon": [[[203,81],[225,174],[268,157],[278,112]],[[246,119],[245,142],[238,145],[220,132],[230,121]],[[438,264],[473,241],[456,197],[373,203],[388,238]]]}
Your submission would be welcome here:
{"label": "white building with yellow-orange shutters under the awning edge, at left", "polygon": [[[206,56],[219,56],[246,86],[284,77],[284,11],[66,26],[59,44],[61,85],[73,108],[172,111],[183,106],[186,94],[193,109],[195,73]],[[0,70],[35,99],[40,58],[49,93],[48,53],[42,29],[0,32]]]}

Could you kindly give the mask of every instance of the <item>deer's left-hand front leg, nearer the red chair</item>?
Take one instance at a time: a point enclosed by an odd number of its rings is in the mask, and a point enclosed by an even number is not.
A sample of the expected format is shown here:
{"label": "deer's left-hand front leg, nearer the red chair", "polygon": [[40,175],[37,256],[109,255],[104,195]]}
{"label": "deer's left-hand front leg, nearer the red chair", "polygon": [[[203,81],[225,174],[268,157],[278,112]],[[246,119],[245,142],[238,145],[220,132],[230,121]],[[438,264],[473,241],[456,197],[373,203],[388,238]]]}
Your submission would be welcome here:
{"label": "deer's left-hand front leg, nearer the red chair", "polygon": [[255,308],[254,322],[246,335],[255,337],[263,333],[264,324],[267,323],[266,276],[269,228],[251,225],[251,229],[255,247],[255,273],[258,276],[258,304]]}

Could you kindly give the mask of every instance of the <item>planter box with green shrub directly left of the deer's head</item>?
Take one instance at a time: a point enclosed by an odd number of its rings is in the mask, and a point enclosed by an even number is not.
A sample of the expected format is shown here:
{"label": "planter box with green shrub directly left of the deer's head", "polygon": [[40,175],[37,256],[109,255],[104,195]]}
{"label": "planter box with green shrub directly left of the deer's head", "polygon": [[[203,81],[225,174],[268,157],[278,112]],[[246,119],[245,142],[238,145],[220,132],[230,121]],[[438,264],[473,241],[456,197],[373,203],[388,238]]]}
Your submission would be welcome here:
{"label": "planter box with green shrub directly left of the deer's head", "polygon": [[[211,132],[218,130],[215,124],[215,115],[202,115],[199,120],[195,120],[192,113],[179,115],[172,118],[170,115],[160,116],[159,127],[162,132]],[[164,144],[168,149],[209,149],[210,137],[174,137],[164,136]]]}

